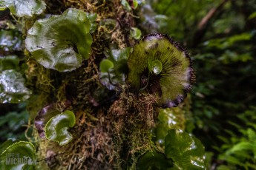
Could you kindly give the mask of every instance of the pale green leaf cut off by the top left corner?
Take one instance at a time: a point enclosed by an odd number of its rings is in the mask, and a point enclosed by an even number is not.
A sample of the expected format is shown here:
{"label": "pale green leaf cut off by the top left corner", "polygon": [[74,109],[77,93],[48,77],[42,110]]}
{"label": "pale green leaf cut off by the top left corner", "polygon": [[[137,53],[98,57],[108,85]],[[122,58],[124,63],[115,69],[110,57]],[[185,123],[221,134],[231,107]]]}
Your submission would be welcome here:
{"label": "pale green leaf cut off by the top left corner", "polygon": [[33,15],[39,15],[46,9],[45,1],[42,0],[1,0],[0,9],[5,7],[15,16],[31,18]]}

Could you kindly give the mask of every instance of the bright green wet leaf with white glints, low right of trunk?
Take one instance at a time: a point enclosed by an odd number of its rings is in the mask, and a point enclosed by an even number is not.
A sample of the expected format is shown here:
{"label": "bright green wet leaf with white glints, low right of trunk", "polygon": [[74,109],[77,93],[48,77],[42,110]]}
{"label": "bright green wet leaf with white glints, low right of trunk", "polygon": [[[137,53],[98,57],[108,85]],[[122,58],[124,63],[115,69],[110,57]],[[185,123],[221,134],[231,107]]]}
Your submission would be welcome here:
{"label": "bright green wet leaf with white glints, low right of trunk", "polygon": [[165,155],[177,169],[206,169],[200,140],[181,130],[171,129],[165,137]]}

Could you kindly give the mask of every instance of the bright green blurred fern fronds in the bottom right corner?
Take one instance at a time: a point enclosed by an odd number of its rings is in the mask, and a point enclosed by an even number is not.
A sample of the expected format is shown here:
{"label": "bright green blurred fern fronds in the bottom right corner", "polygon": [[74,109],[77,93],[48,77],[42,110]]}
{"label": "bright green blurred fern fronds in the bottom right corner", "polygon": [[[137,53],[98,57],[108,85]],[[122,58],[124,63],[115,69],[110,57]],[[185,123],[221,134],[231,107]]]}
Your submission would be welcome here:
{"label": "bright green blurred fern fronds in the bottom right corner", "polygon": [[[238,117],[246,126],[229,121],[234,130],[225,129],[226,136],[219,136],[223,141],[221,147],[214,147],[220,154],[218,158],[225,160],[229,169],[255,169],[256,168],[256,114],[255,108],[248,110]],[[229,136],[229,137],[227,137]],[[223,166],[218,167],[222,169]]]}

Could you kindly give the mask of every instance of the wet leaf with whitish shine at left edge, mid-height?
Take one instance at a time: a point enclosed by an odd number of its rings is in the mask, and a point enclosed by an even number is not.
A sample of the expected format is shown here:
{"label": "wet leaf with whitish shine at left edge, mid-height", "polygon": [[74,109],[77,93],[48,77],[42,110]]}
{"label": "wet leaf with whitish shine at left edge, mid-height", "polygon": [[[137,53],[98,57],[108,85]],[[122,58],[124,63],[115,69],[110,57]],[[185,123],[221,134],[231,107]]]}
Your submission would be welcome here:
{"label": "wet leaf with whitish shine at left edge, mid-height", "polygon": [[0,103],[19,103],[30,97],[30,91],[24,86],[24,78],[13,69],[1,71]]}

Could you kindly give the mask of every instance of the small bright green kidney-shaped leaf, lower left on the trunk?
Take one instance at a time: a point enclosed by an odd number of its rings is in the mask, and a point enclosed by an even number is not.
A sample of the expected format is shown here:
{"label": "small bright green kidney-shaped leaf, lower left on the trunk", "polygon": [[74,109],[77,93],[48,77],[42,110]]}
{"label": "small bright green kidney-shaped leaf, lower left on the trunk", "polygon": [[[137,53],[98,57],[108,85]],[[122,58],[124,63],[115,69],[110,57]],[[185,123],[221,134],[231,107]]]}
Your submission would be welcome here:
{"label": "small bright green kidney-shaped leaf, lower left on the trunk", "polygon": [[45,125],[45,137],[63,146],[73,139],[72,135],[68,132],[68,128],[73,127],[75,123],[75,115],[69,110],[56,115]]}

